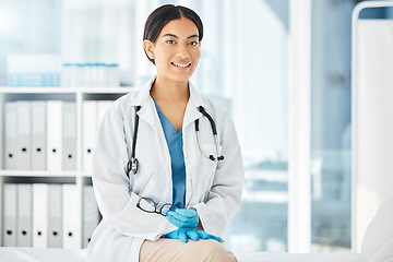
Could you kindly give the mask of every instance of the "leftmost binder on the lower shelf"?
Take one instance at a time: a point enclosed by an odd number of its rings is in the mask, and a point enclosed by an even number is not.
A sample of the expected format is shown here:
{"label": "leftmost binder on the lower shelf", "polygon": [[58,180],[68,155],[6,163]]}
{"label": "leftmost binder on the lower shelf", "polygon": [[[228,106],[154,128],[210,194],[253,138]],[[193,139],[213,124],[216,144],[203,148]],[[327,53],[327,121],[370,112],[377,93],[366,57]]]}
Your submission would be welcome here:
{"label": "leftmost binder on the lower shelf", "polygon": [[16,184],[4,183],[3,246],[16,246]]}

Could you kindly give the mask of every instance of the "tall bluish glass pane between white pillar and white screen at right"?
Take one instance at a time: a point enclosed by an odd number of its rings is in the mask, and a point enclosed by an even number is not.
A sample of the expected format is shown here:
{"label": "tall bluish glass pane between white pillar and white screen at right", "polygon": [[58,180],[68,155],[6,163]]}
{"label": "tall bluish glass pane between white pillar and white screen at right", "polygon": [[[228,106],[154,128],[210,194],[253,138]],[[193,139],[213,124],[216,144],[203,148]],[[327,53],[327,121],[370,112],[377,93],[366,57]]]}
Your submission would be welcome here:
{"label": "tall bluish glass pane between white pillar and white screen at right", "polygon": [[312,1],[311,250],[350,249],[350,37],[356,2]]}

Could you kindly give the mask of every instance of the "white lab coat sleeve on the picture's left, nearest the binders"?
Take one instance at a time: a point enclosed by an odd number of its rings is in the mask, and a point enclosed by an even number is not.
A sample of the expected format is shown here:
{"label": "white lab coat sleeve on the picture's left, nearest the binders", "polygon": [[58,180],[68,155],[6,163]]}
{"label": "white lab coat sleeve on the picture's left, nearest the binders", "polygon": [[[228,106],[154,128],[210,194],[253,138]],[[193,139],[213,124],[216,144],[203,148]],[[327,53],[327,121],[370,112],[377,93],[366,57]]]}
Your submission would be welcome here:
{"label": "white lab coat sleeve on the picture's left, nearest the binders", "polygon": [[104,219],[123,235],[156,240],[175,230],[164,216],[136,207],[139,196],[130,192],[126,175],[128,150],[124,114],[114,104],[105,114],[93,155],[93,186]]}

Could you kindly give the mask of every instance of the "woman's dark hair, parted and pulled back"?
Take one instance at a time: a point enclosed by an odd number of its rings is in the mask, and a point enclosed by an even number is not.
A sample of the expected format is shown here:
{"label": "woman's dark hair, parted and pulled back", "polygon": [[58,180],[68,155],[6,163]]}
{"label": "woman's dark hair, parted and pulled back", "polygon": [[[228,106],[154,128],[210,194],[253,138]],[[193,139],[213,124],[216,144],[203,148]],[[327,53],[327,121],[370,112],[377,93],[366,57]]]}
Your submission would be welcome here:
{"label": "woman's dark hair, parted and pulled back", "polygon": [[[154,10],[147,17],[144,32],[143,40],[151,40],[155,43],[164,26],[172,20],[186,17],[194,22],[199,32],[199,40],[203,38],[203,24],[200,16],[189,8],[174,4],[165,4]],[[145,55],[146,53],[146,50]],[[154,59],[147,56],[148,60],[155,64]]]}

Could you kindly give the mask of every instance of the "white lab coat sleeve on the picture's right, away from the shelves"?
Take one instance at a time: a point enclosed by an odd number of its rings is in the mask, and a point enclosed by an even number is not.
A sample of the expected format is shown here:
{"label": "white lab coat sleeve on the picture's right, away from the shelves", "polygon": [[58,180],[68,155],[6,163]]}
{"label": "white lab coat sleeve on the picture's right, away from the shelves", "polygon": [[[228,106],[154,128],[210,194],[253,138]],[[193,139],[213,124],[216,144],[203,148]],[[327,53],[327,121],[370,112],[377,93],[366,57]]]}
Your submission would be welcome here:
{"label": "white lab coat sleeve on the picture's right, away from the shelves", "polygon": [[239,141],[234,123],[226,111],[219,130],[222,155],[207,200],[193,206],[200,216],[203,229],[212,235],[222,236],[227,222],[241,205],[245,170]]}

